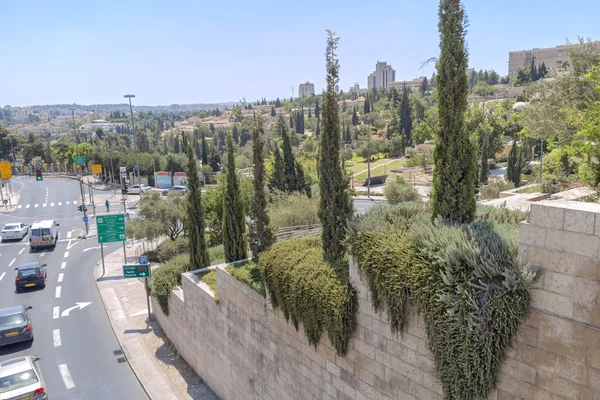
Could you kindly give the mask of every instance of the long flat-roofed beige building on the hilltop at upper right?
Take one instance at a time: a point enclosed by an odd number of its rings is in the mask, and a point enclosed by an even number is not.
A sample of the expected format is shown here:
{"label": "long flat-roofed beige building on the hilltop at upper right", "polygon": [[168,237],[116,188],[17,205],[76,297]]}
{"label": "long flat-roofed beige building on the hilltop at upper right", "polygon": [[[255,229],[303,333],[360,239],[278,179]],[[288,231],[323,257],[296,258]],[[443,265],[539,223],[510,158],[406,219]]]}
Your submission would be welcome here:
{"label": "long flat-roofed beige building on the hilltop at upper right", "polygon": [[[594,42],[594,44],[600,48],[600,41]],[[579,43],[547,49],[511,51],[508,53],[508,77],[511,81],[515,79],[519,69],[529,68],[534,57],[535,65],[539,67],[544,63],[548,72],[564,71],[571,62],[567,56],[567,50],[573,46],[579,46]]]}

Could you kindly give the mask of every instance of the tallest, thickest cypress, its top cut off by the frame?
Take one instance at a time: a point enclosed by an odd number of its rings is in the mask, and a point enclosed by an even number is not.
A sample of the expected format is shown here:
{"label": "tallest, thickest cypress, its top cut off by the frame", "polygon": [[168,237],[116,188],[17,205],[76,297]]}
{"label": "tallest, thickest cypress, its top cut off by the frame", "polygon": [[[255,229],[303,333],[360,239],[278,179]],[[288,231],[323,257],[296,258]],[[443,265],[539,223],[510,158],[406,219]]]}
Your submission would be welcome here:
{"label": "tallest, thickest cypress, its top cut off by the frame", "polygon": [[475,148],[465,127],[469,82],[465,11],[460,0],[440,0],[437,62],[438,138],[434,149],[432,218],[470,222],[475,215]]}

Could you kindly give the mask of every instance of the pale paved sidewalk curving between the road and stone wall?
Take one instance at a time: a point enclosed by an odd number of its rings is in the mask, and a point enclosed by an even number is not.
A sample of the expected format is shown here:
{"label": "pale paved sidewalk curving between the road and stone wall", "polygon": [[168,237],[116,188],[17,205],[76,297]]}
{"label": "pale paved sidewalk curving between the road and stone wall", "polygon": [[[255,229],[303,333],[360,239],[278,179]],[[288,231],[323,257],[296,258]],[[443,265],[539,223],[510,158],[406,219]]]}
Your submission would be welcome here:
{"label": "pale paved sidewalk curving between the road and stone wall", "polygon": [[[135,250],[127,246],[127,263],[136,264]],[[123,249],[105,254],[94,277],[110,323],[127,360],[152,400],[218,397],[195,374],[168,341],[156,320],[148,320],[143,279],[123,278]]]}

